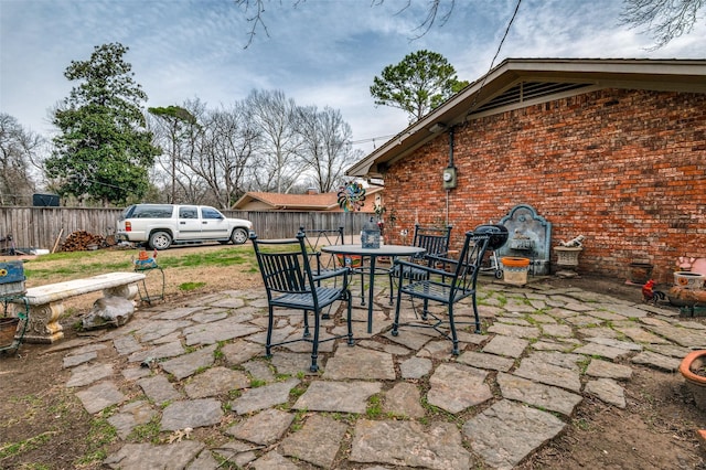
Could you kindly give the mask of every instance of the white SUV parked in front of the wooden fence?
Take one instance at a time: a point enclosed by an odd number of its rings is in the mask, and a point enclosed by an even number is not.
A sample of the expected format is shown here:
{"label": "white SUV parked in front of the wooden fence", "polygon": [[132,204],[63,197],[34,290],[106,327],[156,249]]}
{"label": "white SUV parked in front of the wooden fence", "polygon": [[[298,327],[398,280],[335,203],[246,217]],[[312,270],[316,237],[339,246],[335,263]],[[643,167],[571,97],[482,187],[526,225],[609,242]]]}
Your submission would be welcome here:
{"label": "white SUV parked in front of the wooden fence", "polygon": [[226,218],[207,205],[135,204],[118,220],[116,238],[147,243],[153,249],[167,249],[172,243],[217,241],[242,245],[253,223]]}

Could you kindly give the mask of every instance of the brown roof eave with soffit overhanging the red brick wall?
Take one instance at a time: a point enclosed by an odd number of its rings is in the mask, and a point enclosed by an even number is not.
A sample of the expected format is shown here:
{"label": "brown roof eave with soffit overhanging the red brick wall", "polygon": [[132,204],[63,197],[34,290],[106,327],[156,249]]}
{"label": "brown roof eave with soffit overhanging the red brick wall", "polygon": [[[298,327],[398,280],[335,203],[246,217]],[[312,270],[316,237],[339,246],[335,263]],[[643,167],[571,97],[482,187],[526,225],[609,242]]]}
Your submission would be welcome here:
{"label": "brown roof eave with soffit overhanging the red brick wall", "polygon": [[452,126],[603,88],[706,93],[706,60],[507,58],[346,174],[384,178],[389,164]]}

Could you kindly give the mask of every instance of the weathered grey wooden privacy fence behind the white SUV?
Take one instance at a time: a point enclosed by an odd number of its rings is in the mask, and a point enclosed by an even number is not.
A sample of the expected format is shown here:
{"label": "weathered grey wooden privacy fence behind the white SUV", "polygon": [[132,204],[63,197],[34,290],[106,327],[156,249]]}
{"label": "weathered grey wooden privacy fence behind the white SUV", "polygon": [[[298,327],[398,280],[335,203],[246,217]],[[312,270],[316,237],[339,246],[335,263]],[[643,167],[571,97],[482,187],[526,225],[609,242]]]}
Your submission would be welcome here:
{"label": "weathered grey wooden privacy fence behind the white SUV", "polygon": [[[247,212],[221,211],[227,217],[247,218],[260,238],[288,238],[306,228],[345,227],[345,235],[360,234],[368,213],[344,212]],[[0,207],[0,238],[12,235],[17,248],[52,249],[68,235],[86,231],[94,235],[115,235],[122,209],[87,207]],[[349,243],[349,242],[346,242]],[[4,244],[1,244],[4,247]]]}

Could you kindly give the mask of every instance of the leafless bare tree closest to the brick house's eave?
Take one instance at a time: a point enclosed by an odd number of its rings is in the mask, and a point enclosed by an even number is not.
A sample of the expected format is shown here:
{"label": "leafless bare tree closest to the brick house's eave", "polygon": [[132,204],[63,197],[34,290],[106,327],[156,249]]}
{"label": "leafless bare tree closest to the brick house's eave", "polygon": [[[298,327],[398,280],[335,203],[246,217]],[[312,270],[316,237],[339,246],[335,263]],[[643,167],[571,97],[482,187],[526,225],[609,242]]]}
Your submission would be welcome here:
{"label": "leafless bare tree closest to the brick house's eave", "polygon": [[341,111],[315,106],[299,108],[300,154],[307,161],[308,174],[321,193],[341,184],[345,169],[360,157],[352,151],[351,126]]}

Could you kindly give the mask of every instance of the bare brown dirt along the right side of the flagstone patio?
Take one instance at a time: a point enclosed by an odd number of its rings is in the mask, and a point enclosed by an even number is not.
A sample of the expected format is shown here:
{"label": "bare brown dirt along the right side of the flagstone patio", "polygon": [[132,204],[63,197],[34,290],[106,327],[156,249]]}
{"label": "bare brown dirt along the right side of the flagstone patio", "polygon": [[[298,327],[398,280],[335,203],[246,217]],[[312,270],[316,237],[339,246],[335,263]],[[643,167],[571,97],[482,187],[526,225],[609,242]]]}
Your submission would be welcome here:
{"label": "bare brown dirt along the right side of the flagstone patio", "polygon": [[[642,299],[639,287],[617,279],[552,278],[548,282],[635,302]],[[703,317],[695,321],[706,323]],[[624,384],[625,409],[585,397],[573,425],[518,468],[706,470],[706,442],[699,445],[696,438],[696,430],[706,428],[706,413],[696,408],[682,375],[631,367],[633,376]]]}

